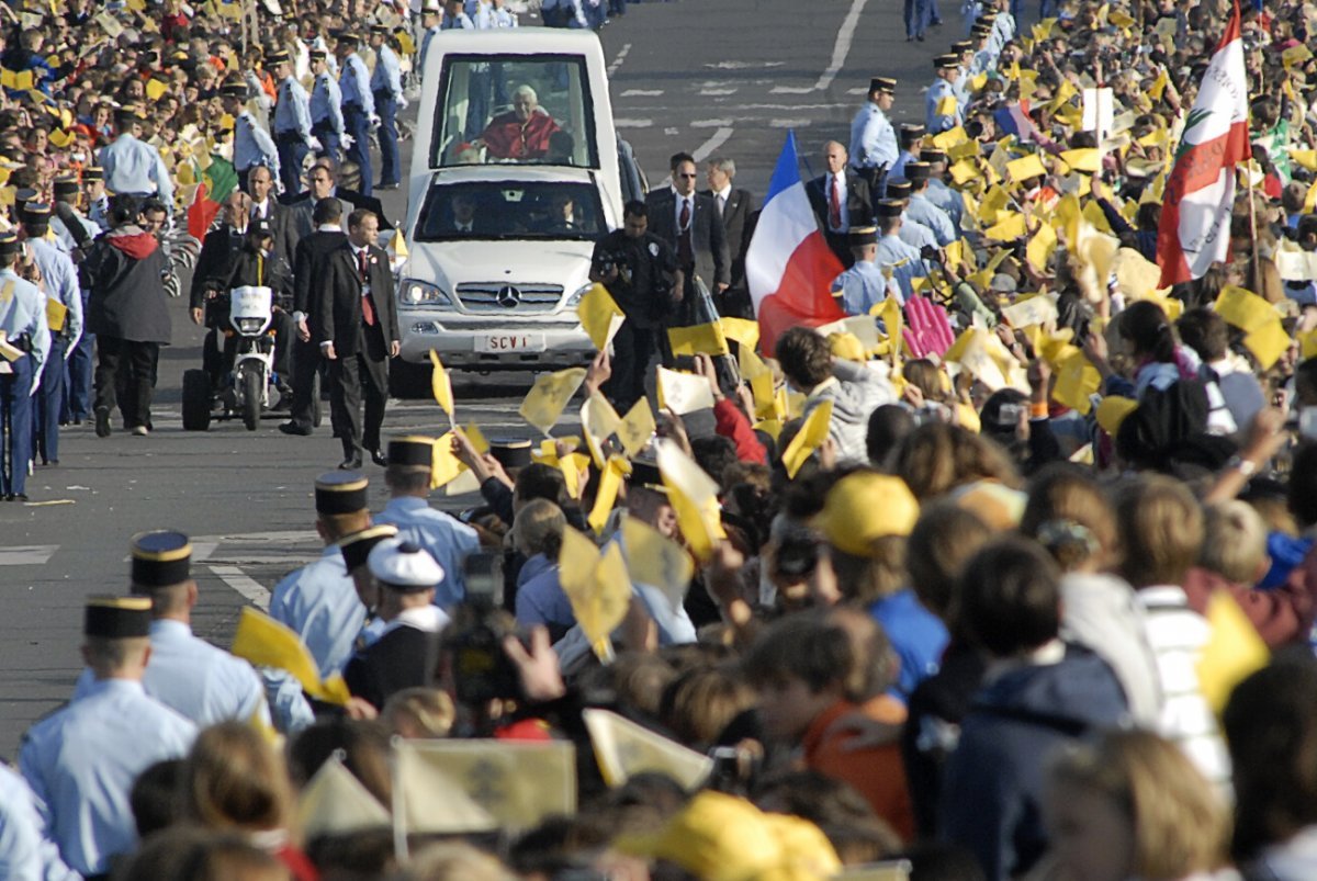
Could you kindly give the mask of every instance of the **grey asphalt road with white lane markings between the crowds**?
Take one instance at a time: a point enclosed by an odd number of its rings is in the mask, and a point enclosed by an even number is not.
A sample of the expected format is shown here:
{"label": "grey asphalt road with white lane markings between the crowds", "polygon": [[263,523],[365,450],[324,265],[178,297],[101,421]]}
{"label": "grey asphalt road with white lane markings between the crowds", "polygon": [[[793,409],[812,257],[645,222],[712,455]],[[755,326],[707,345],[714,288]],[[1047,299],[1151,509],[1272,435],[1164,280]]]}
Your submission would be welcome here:
{"label": "grey asphalt road with white lane markings between the crowds", "polygon": [[[823,141],[847,140],[872,75],[901,79],[897,121],[922,119],[931,58],[963,33],[957,9],[943,14],[947,24],[928,42],[906,43],[894,0],[631,4],[601,34],[614,113],[652,184],[666,176],[674,151],[720,153],[736,159],[738,186],[761,196],[788,129],[818,169]],[[391,217],[404,215],[399,192],[381,195]],[[29,479],[32,502],[0,504],[0,756],[12,757],[28,726],[70,694],[83,601],[126,589],[132,533],[169,527],[194,536],[202,587],[194,628],[221,645],[242,606],[263,606],[281,575],[319,553],[312,485],[341,458],[338,442],[328,428],[286,437],[274,419],[255,432],[238,423],[183,432],[182,374],[200,366],[202,334],[184,300],[173,303],[173,321],[151,436],[100,440],[88,425],[70,427],[61,465]],[[460,421],[474,420],[487,435],[532,431],[516,415],[524,385],[456,385]],[[385,428],[439,433],[443,420],[432,402],[392,402]],[[382,507],[379,470],[367,466],[367,474]]]}

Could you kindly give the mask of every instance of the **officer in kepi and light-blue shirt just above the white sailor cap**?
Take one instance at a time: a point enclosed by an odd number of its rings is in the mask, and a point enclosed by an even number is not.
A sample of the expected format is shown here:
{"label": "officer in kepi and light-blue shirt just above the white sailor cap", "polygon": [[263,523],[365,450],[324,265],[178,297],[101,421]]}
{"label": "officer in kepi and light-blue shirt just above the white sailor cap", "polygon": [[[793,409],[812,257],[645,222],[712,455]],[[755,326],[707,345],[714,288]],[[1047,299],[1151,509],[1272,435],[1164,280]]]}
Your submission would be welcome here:
{"label": "officer in kepi and light-blue shirt just above the white sailor cap", "polygon": [[432,437],[408,436],[389,441],[385,483],[390,499],[374,520],[398,527],[400,539],[420,545],[444,568],[448,577],[439,585],[435,603],[450,610],[466,597],[462,560],[479,550],[481,541],[475,529],[427,503],[433,456]]}

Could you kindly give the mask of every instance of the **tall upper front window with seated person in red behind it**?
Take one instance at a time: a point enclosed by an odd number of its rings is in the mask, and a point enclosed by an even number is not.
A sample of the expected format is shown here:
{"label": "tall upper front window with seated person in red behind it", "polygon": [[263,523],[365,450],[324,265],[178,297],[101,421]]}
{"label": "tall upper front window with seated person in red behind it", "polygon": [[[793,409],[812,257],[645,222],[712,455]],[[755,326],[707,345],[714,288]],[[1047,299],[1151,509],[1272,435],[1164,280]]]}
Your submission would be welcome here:
{"label": "tall upper front window with seated person in red behind it", "polygon": [[431,167],[598,169],[593,107],[581,55],[448,54]]}

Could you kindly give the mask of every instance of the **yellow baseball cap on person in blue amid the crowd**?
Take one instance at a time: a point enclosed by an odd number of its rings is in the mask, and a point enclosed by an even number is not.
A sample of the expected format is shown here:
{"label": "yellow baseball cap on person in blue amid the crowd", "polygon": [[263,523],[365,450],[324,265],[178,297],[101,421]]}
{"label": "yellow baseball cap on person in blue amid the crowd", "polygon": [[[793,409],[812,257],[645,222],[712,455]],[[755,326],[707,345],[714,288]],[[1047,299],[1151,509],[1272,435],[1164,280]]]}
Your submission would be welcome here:
{"label": "yellow baseball cap on person in blue amid the crowd", "polygon": [[828,491],[814,525],[827,543],[856,557],[873,552],[886,536],[907,536],[919,519],[919,500],[898,477],[860,471]]}

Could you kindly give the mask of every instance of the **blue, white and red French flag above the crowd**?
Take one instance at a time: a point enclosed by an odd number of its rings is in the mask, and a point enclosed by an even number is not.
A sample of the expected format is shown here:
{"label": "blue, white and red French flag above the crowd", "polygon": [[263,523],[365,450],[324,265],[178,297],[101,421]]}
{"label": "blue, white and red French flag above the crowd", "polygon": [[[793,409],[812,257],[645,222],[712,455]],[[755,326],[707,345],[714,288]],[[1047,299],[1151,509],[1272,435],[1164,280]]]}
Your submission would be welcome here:
{"label": "blue, white and red French flag above the crowd", "polygon": [[795,133],[790,132],[745,254],[745,278],[765,354],[773,353],[786,328],[818,327],[846,317],[830,294],[842,269],[805,195]]}

